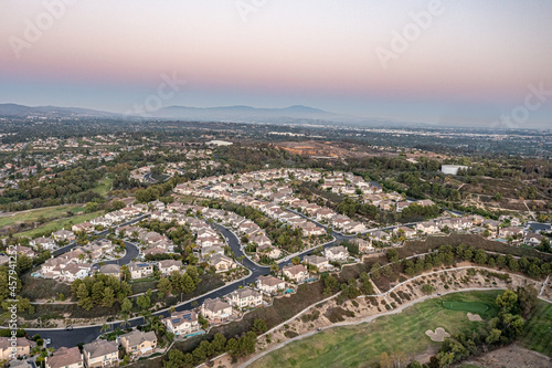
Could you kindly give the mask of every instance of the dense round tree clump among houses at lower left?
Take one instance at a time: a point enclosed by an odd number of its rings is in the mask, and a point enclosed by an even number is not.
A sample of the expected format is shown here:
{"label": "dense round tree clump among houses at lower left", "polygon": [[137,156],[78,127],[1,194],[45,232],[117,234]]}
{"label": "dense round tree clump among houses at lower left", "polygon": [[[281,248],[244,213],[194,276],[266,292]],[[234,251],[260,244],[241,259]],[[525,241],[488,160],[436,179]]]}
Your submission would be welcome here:
{"label": "dense round tree clump among houses at lower left", "polygon": [[121,311],[130,311],[132,307],[127,298],[132,294],[132,288],[126,281],[119,281],[116,276],[98,274],[75,280],[71,284],[71,292],[78,306],[86,311],[94,306],[112,307],[116,303],[120,305]]}

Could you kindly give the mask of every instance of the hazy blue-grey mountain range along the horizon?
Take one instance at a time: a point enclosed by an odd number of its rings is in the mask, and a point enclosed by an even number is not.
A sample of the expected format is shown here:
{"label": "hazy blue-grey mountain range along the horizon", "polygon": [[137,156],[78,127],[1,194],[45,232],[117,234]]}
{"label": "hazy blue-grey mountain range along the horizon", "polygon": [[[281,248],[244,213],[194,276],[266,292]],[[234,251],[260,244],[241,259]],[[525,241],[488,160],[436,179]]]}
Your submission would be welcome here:
{"label": "hazy blue-grey mountain range along the horizon", "polygon": [[302,105],[285,108],[257,108],[251,106],[188,107],[168,106],[146,116],[109,113],[79,107],[24,106],[0,104],[0,117],[49,117],[49,118],[114,118],[147,120],[171,119],[189,122],[232,122],[267,124],[338,124],[338,125],[401,125],[397,122],[368,119],[351,115],[336,114]]}

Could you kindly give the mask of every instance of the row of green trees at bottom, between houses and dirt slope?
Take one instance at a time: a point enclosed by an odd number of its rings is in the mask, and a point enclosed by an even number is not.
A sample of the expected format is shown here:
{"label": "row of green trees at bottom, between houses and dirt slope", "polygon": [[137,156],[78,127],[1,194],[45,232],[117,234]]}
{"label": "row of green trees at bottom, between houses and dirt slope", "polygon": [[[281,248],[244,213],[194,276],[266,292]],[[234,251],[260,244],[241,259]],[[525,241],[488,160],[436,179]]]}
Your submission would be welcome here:
{"label": "row of green trees at bottom, between houses and dirt slope", "polygon": [[171,349],[168,354],[168,360],[163,361],[163,368],[184,368],[194,367],[213,358],[222,353],[227,353],[232,358],[244,357],[255,353],[257,334],[266,332],[266,323],[263,319],[256,319],[252,330],[245,333],[240,338],[229,338],[217,333],[211,341],[203,340],[191,353]]}

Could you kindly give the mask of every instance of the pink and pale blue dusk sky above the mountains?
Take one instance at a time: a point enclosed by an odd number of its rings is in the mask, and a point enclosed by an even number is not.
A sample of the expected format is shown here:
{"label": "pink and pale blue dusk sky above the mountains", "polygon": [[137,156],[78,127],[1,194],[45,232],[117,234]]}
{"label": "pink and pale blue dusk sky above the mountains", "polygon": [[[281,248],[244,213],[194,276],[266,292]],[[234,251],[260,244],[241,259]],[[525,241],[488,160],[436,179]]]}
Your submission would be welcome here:
{"label": "pink and pale blue dusk sky above the mountains", "polygon": [[0,103],[552,127],[551,65],[552,1],[0,1]]}

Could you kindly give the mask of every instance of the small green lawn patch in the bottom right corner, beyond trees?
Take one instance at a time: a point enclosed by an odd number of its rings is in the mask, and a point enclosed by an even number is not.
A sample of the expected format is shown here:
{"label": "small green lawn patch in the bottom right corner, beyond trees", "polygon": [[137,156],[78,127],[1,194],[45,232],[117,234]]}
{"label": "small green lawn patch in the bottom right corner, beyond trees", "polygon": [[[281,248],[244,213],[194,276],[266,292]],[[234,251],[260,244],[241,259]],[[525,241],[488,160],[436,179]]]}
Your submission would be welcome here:
{"label": "small green lawn patch in the bottom right corner, beyond trees", "polygon": [[552,357],[552,304],[537,303],[519,340],[521,346]]}

